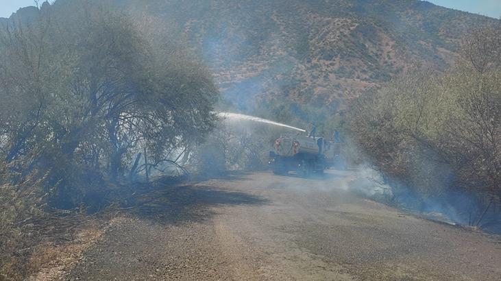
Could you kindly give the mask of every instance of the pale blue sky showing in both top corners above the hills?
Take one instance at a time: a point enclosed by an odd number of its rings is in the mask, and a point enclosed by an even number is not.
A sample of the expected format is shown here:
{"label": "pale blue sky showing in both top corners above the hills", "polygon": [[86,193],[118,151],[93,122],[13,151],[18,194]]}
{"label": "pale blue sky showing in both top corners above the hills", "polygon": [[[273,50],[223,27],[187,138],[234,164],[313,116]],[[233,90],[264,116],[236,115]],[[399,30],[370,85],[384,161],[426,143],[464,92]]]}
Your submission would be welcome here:
{"label": "pale blue sky showing in both top corners above the hills", "polygon": [[[42,3],[44,0],[40,0]],[[400,1],[400,0],[394,0]],[[501,0],[428,0],[435,5],[483,14],[499,19],[501,17]],[[34,0],[0,0],[0,17],[8,18],[21,7],[34,5]]]}

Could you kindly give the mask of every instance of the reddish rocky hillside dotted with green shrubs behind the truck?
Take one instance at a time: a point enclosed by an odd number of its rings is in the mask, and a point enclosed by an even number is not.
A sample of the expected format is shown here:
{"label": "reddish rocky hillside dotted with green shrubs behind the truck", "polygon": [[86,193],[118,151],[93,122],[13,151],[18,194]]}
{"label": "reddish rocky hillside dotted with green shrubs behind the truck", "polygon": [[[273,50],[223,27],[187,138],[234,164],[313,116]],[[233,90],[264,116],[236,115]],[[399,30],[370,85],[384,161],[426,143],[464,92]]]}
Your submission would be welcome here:
{"label": "reddish rocky hillside dotted with green shrubs behind the truck", "polygon": [[182,34],[241,109],[257,97],[336,108],[414,64],[447,68],[465,29],[492,20],[419,0],[116,2]]}

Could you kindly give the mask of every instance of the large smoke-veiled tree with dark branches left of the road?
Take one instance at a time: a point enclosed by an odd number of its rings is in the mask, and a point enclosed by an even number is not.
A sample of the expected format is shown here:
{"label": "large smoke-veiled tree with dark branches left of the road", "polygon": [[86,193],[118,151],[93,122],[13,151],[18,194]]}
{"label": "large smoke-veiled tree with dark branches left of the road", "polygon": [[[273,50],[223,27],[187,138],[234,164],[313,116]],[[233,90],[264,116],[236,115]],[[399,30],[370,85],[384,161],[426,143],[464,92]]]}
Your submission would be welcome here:
{"label": "large smoke-veiled tree with dark branches left of the road", "polygon": [[98,1],[49,8],[0,32],[0,156],[19,181],[117,181],[212,129],[217,88],[169,34]]}

